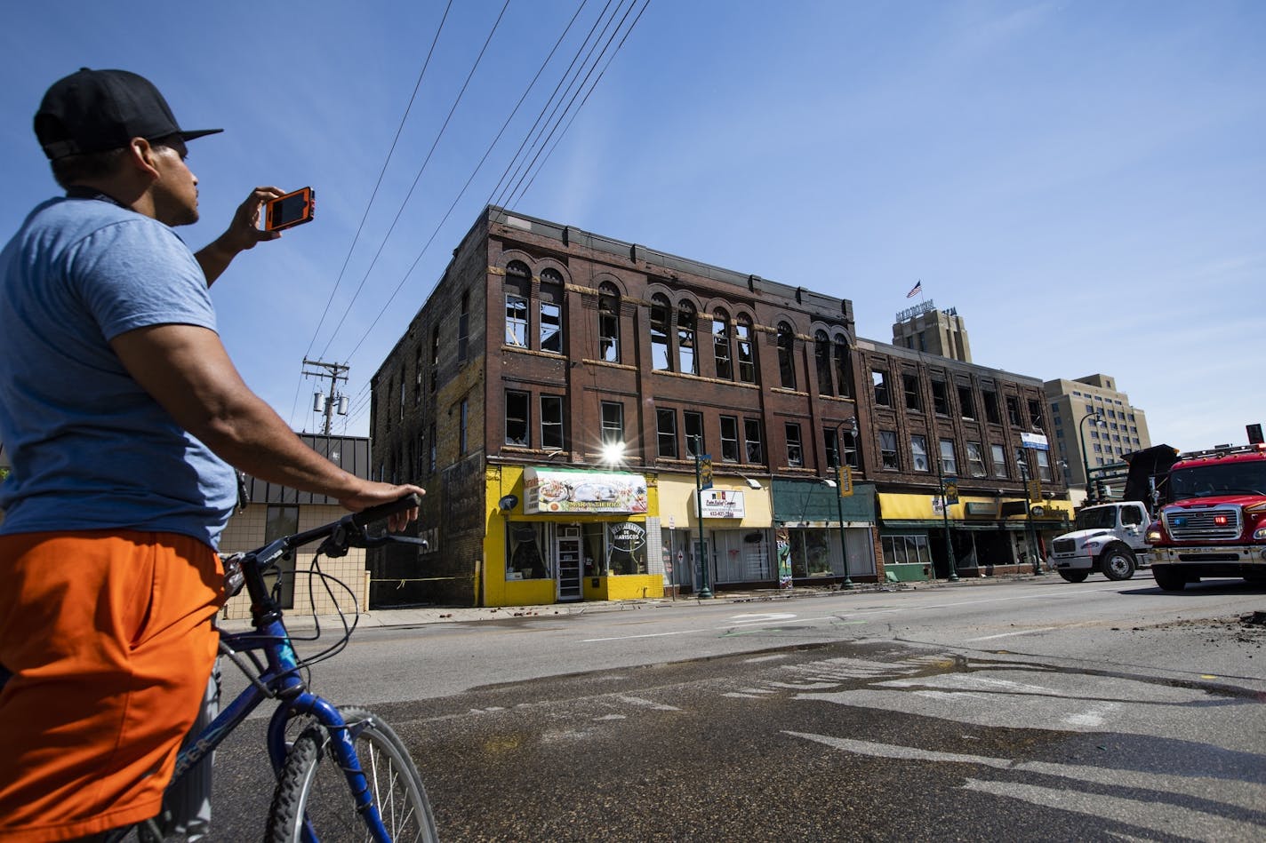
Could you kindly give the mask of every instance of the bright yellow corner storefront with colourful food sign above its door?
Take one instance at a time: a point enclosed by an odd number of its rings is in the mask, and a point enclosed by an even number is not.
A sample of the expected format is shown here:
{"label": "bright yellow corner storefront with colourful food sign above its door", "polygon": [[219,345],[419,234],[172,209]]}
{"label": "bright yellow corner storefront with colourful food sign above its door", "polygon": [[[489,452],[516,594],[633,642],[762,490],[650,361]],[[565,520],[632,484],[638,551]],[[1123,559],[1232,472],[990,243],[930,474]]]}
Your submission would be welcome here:
{"label": "bright yellow corner storefront with colourful food sign above its door", "polygon": [[663,596],[653,478],[490,466],[485,499],[482,605]]}

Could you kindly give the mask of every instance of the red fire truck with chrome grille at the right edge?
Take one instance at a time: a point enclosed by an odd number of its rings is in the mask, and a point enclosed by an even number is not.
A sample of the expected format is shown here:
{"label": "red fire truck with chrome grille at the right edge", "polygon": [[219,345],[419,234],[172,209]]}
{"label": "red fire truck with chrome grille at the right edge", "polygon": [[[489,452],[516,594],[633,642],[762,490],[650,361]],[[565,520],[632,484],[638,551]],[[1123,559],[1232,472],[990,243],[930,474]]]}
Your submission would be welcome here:
{"label": "red fire truck with chrome grille at the right edge", "polygon": [[1266,582],[1266,444],[1179,456],[1147,529],[1156,585],[1181,591],[1201,577]]}

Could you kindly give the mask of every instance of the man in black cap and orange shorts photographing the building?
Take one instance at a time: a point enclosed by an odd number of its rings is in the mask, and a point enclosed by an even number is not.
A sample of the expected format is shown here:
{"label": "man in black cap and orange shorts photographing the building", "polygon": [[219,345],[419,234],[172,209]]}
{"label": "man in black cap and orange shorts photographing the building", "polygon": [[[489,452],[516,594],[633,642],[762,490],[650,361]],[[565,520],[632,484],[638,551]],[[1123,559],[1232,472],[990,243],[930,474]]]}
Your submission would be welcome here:
{"label": "man in black cap and orange shorts photographing the building", "polygon": [[[353,511],[413,486],[320,457],[242,382],[208,286],[257,228],[258,187],[197,254],[197,178],[158,90],[56,82],[35,135],[65,197],[0,252],[0,839],[67,840],[160,810],[223,603],[230,466]],[[417,510],[395,518],[403,528]]]}

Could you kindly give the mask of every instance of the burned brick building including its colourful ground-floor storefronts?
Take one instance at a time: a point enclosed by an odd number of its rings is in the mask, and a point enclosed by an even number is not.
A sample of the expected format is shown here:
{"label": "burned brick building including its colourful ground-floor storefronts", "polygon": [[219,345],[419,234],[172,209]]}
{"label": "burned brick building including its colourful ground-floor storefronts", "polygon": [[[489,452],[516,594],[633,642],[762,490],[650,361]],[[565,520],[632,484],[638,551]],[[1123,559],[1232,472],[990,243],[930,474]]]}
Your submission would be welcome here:
{"label": "burned brick building including its colourful ground-floor storefronts", "polygon": [[371,557],[376,605],[976,576],[1067,513],[1039,380],[495,206],[371,389],[375,476],[427,489],[429,540]]}

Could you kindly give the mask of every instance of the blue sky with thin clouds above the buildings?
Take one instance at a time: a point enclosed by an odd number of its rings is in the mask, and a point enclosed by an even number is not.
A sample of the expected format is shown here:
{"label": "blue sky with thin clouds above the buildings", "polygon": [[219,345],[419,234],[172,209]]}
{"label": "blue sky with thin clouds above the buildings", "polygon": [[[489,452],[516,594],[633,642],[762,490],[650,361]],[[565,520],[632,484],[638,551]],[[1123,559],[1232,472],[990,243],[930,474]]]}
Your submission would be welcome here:
{"label": "blue sky with thin clouds above the buildings", "polygon": [[[222,334],[296,429],[318,424],[304,354],[349,363],[346,429],[365,434],[368,377],[585,33],[628,8],[453,3],[414,95],[443,3],[13,4],[0,230],[56,191],[30,130],[47,86],[148,76],[184,125],[225,129],[191,144],[191,246],[253,185],[316,189],[314,223],[215,285]],[[1263,43],[1256,0],[651,0],[513,208],[851,299],[881,342],[922,280],[974,362],[1104,372],[1153,442],[1244,442],[1266,422]]]}

